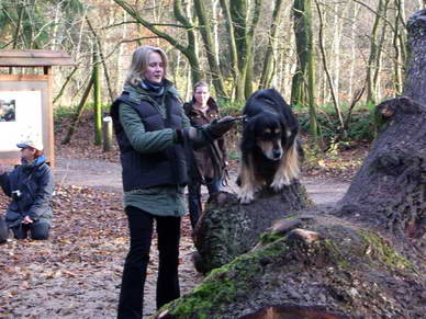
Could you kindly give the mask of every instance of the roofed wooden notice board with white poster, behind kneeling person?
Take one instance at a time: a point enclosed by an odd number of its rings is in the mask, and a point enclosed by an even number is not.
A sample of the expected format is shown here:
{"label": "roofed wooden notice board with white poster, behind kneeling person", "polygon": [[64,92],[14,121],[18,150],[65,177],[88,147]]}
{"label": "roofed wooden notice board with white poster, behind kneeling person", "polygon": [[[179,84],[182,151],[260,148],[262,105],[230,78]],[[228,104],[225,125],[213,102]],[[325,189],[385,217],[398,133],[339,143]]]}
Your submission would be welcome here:
{"label": "roofed wooden notice board with white poster, behind kneeling person", "polygon": [[0,67],[43,67],[43,75],[0,75],[0,163],[20,163],[18,143],[43,140],[47,161],[55,164],[52,66],[74,65],[64,53],[0,50]]}

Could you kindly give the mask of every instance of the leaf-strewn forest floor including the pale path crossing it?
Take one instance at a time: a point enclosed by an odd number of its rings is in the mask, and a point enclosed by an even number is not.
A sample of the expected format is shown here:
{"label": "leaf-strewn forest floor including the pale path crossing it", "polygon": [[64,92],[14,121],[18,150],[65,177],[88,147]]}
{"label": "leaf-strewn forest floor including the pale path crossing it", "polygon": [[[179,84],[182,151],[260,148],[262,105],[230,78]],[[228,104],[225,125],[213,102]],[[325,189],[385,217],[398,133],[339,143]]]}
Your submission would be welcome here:
{"label": "leaf-strewn forest floor including the pale path crossing it", "polygon": [[[80,126],[83,127],[83,126]],[[71,144],[56,138],[54,220],[47,241],[11,240],[0,246],[0,318],[115,318],[121,273],[128,235],[122,205],[117,152],[104,153],[76,132]],[[334,205],[345,194],[367,146],[326,157],[303,168],[301,178],[316,204]],[[231,183],[237,160],[229,166]],[[204,197],[206,195],[204,194]],[[8,198],[0,194],[0,212]],[[202,276],[192,266],[194,247],[188,216],[182,221],[180,244],[181,294],[189,293]],[[155,312],[158,265],[153,242],[145,285],[144,314]]]}

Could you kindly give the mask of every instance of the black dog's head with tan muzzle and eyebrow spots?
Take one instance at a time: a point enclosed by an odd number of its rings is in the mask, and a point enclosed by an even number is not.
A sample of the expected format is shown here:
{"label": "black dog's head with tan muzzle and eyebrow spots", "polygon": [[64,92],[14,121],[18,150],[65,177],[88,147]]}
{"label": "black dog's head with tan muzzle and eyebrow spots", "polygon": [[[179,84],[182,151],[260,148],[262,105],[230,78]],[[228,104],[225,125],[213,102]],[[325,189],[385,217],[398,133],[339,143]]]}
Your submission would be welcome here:
{"label": "black dog's head with tan muzzle and eyebrow spots", "polygon": [[248,147],[259,148],[266,158],[278,161],[284,152],[285,134],[285,127],[276,113],[261,112],[248,121],[243,140],[254,144]]}

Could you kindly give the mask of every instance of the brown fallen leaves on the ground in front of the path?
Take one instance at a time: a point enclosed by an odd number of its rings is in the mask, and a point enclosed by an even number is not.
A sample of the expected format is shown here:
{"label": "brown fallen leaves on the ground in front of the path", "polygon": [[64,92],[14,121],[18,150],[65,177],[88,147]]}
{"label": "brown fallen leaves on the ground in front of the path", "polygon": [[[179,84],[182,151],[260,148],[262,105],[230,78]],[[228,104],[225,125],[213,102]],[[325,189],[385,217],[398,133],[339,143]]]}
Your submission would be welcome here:
{"label": "brown fallen leaves on the ground in front of the path", "polygon": [[[0,212],[9,198],[0,195]],[[53,200],[47,241],[12,240],[0,246],[0,318],[115,318],[127,253],[122,195],[64,186]],[[192,267],[188,218],[182,223],[181,282],[189,292],[201,280]],[[146,314],[155,310],[156,244],[145,286]]]}

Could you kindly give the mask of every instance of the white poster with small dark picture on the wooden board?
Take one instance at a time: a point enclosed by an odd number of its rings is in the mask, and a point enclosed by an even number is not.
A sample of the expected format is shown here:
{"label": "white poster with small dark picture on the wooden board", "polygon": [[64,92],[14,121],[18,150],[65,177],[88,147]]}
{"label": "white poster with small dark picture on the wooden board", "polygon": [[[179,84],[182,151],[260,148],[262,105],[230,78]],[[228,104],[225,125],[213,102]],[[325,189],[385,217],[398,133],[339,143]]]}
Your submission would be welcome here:
{"label": "white poster with small dark picture on the wooden board", "polygon": [[43,140],[42,92],[0,91],[0,151],[29,138]]}

